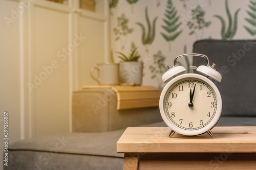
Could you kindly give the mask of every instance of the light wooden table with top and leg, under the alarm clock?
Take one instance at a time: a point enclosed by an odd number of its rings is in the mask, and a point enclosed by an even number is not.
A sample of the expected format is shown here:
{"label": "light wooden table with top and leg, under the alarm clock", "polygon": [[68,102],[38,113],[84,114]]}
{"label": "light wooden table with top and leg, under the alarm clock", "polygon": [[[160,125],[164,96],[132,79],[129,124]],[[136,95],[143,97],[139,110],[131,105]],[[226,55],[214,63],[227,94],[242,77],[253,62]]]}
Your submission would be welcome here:
{"label": "light wooden table with top and leg, under the alarm clock", "polygon": [[127,128],[117,142],[123,169],[256,169],[256,127],[215,127],[169,138],[168,127]]}

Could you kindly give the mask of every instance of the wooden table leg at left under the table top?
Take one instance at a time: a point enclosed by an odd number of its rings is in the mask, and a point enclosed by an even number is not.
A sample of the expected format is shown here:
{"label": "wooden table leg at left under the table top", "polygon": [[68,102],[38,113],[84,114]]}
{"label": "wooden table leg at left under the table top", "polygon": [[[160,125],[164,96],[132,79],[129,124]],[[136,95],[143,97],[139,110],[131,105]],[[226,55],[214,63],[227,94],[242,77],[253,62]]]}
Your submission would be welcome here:
{"label": "wooden table leg at left under the table top", "polygon": [[138,169],[139,154],[124,154],[123,170]]}

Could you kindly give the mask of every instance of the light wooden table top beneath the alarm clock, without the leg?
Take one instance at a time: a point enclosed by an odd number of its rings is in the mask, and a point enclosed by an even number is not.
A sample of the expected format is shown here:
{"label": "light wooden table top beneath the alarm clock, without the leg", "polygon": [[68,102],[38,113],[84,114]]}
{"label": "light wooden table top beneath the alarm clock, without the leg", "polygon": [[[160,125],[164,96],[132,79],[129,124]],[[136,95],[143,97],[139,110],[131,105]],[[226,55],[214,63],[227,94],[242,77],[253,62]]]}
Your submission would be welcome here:
{"label": "light wooden table top beneath the alarm clock, without the leg", "polygon": [[214,127],[207,133],[184,136],[169,127],[129,127],[117,142],[118,153],[256,153],[256,127]]}

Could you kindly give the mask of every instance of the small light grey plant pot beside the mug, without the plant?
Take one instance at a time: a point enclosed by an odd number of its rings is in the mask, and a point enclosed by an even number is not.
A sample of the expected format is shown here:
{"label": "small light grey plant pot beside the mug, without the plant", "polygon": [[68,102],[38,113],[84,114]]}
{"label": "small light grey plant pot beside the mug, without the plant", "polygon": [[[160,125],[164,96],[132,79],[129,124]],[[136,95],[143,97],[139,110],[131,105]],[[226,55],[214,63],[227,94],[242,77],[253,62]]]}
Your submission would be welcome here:
{"label": "small light grey plant pot beside the mug, without the plant", "polygon": [[122,62],[119,66],[121,83],[141,85],[143,63],[136,61]]}

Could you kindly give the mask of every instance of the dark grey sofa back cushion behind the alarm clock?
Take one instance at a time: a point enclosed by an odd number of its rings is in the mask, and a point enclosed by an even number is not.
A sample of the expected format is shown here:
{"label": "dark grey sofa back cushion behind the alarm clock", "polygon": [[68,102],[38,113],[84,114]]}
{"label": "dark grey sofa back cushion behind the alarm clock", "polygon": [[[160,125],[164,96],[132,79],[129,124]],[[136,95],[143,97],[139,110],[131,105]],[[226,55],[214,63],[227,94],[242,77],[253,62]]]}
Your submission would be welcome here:
{"label": "dark grey sofa back cushion behind the alarm clock", "polygon": [[[204,54],[222,75],[216,83],[222,96],[222,115],[256,116],[256,40],[200,40],[194,53]],[[206,65],[194,57],[194,65]]]}

